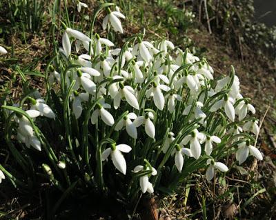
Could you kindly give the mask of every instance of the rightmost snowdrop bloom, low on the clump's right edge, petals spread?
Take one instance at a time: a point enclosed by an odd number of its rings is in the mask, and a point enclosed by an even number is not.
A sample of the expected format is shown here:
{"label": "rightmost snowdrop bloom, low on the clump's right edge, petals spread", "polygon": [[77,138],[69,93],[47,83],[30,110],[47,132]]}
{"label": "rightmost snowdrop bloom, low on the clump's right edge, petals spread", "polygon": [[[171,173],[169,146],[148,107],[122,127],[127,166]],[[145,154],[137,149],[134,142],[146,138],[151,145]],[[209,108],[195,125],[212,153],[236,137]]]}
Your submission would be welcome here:
{"label": "rightmost snowdrop bloom, low on the clump's right edge, petals spread", "polygon": [[263,160],[262,153],[259,152],[257,148],[250,145],[249,141],[244,141],[242,143],[239,143],[238,146],[239,146],[239,149],[236,152],[236,159],[237,161],[239,161],[239,165],[241,165],[242,163],[244,163],[244,161],[246,161],[249,153],[259,161]]}

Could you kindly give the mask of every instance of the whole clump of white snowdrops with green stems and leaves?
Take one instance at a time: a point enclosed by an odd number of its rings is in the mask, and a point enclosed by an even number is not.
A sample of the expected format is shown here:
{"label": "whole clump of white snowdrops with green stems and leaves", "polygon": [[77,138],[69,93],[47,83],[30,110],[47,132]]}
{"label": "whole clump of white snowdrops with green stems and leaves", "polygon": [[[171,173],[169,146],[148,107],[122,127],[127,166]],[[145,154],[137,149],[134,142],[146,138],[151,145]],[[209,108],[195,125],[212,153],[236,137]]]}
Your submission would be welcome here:
{"label": "whole clump of white snowdrops with green stems and leaves", "polygon": [[124,14],[113,3],[95,12],[89,34],[61,21],[46,95],[29,88],[2,106],[6,141],[21,168],[0,166],[0,182],[31,188],[48,181],[66,194],[86,186],[130,202],[172,192],[202,168],[210,181],[249,155],[262,160],[255,108],[240,94],[233,67],[216,80],[206,59],[141,34],[119,48],[93,30],[101,10],[103,30],[124,33]]}

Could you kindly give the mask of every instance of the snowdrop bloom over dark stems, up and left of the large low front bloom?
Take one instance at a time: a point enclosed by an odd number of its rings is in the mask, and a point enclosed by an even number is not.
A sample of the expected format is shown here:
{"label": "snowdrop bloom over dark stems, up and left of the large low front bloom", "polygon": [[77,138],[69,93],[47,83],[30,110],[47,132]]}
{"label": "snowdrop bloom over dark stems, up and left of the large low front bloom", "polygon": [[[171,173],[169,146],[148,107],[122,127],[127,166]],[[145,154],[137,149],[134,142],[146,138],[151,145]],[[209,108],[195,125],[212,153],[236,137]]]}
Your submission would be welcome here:
{"label": "snowdrop bloom over dark stems, up and left of the large low front bloom", "polygon": [[112,114],[106,110],[106,108],[111,108],[111,106],[107,103],[97,104],[96,110],[91,115],[91,123],[95,124],[98,121],[98,117],[101,117],[101,120],[103,120],[104,123],[106,123],[107,126],[112,126],[115,121],[112,117]]}

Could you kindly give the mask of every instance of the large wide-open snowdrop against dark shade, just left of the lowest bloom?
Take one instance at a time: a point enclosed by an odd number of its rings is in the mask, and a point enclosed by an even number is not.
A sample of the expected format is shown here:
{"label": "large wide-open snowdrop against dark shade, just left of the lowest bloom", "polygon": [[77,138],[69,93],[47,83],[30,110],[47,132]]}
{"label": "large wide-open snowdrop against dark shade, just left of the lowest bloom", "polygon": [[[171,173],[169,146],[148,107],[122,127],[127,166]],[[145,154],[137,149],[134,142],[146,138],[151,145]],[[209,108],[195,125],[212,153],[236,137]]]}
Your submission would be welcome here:
{"label": "large wide-open snowdrop against dark shade, just left of the lowest bloom", "polygon": [[115,168],[119,170],[122,174],[126,174],[126,160],[124,159],[124,156],[121,152],[128,153],[130,152],[131,148],[130,146],[126,144],[119,144],[115,146],[115,144],[112,144],[111,148],[107,148],[106,150],[103,150],[103,153],[101,155],[101,160],[105,161],[108,159],[108,156],[110,155],[111,160]]}

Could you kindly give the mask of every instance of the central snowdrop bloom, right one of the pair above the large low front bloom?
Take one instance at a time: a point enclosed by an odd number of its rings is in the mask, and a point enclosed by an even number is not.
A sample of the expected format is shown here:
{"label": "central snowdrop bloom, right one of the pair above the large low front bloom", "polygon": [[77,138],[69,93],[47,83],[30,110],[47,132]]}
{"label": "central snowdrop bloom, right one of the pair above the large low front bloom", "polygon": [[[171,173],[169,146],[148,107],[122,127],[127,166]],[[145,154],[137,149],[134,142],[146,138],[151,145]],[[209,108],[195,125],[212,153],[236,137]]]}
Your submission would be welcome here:
{"label": "central snowdrop bloom, right one of the pair above the large low front bloom", "polygon": [[152,114],[152,112],[148,112],[145,116],[137,117],[137,119],[135,119],[135,121],[133,121],[133,123],[136,127],[139,127],[144,124],[146,134],[148,134],[149,137],[154,139],[155,138],[155,125],[154,125],[154,123],[152,123],[152,121],[150,119],[152,119],[152,120],[154,119],[154,115]]}

